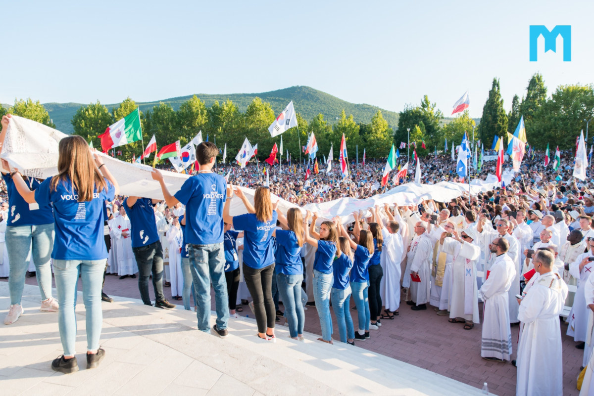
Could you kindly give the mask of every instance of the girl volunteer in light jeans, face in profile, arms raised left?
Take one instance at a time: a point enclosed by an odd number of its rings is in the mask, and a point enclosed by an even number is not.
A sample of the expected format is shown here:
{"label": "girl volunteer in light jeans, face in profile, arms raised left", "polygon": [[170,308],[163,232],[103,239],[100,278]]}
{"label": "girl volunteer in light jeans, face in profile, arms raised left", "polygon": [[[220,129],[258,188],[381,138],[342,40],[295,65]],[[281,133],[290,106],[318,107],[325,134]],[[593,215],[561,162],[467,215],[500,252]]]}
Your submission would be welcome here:
{"label": "girl volunteer in light jeans, face in profile, arms raised left", "polygon": [[[309,219],[311,219],[311,226],[308,227]],[[334,283],[332,263],[334,258],[340,257],[341,254],[335,223],[338,220],[323,221],[320,225],[320,232],[315,232],[317,219],[317,213],[314,213],[312,217],[311,212],[307,211],[304,221],[305,242],[317,248],[314,259],[313,288],[315,309],[318,311],[322,330],[322,337],[318,340],[332,344],[332,318],[330,317],[330,290]]]}

